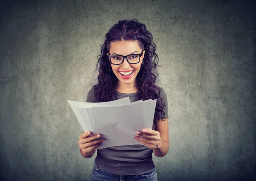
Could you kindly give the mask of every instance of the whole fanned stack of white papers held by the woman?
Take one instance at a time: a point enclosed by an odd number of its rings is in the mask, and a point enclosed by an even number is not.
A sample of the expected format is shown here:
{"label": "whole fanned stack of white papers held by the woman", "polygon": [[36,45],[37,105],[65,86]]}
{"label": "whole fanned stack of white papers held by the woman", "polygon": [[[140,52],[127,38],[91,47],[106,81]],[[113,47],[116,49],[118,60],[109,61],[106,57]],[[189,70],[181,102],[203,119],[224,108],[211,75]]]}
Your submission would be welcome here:
{"label": "whole fanned stack of white papers held by the woman", "polygon": [[105,138],[97,149],[140,144],[137,131],[152,129],[157,100],[130,102],[129,97],[103,103],[69,101],[84,132]]}

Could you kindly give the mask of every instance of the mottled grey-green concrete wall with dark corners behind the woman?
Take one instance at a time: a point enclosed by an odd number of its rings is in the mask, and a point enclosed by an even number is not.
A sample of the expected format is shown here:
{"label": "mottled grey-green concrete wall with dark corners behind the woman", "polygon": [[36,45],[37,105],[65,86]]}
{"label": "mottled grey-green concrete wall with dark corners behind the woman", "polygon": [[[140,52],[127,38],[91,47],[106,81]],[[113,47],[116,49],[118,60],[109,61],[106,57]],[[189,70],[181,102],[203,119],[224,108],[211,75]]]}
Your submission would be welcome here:
{"label": "mottled grey-green concrete wall with dark corners behind the woman", "polygon": [[100,45],[118,20],[153,34],[169,101],[158,179],[256,178],[253,0],[2,0],[0,180],[89,181],[95,156],[67,99],[85,101]]}

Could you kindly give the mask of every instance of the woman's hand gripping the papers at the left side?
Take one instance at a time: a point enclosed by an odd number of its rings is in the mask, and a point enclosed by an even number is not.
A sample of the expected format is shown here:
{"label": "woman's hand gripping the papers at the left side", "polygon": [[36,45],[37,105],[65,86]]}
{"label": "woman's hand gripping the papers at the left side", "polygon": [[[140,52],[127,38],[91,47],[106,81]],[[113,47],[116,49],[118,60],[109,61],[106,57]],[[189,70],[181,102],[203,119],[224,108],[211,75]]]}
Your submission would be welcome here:
{"label": "woman's hand gripping the papers at the left side", "polygon": [[90,136],[91,132],[84,132],[79,136],[79,147],[81,151],[88,156],[92,156],[95,152],[95,149],[99,147],[103,141],[105,141],[105,138],[101,138],[99,140],[96,140],[101,137],[100,134],[96,134],[93,136]]}

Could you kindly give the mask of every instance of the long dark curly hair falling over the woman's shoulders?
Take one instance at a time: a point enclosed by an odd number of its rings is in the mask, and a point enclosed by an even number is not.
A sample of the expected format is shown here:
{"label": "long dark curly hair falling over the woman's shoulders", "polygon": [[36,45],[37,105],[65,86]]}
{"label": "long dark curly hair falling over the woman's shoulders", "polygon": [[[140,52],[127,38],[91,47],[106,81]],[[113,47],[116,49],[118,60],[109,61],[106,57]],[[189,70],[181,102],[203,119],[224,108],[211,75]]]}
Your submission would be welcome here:
{"label": "long dark curly hair falling over the woman's shoulders", "polygon": [[[137,19],[133,20],[119,20],[119,22],[109,30],[105,35],[105,42],[101,45],[101,55],[96,65],[98,71],[98,84],[94,89],[94,94],[97,102],[114,101],[117,99],[116,88],[118,86],[118,78],[113,73],[111,63],[108,60],[111,42],[121,40],[138,40],[139,46],[145,55],[143,58],[143,64],[141,65],[140,72],[136,77],[136,86],[138,89],[139,100],[157,99],[160,98],[160,102],[157,101],[154,120],[162,120],[164,117],[163,108],[166,106],[163,104],[163,100],[160,96],[160,87],[155,85],[158,80],[159,74],[157,73],[156,66],[159,62],[158,55],[156,54],[156,45],[153,43],[152,34],[146,29],[145,24],[139,23]],[[160,81],[159,81],[160,82]],[[159,118],[157,112],[163,113],[163,116]]]}

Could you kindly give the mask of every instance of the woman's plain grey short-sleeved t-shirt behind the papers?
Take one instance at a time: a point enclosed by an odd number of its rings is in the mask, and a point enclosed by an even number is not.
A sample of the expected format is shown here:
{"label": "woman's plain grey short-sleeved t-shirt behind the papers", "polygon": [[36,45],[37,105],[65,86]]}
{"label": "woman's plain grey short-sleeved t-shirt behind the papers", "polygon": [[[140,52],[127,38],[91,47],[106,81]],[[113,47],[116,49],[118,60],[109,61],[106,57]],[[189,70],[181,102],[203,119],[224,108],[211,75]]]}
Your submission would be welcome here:
{"label": "woman's plain grey short-sleeved t-shirt behind the papers", "polygon": [[[93,87],[88,92],[86,102],[96,102]],[[163,112],[165,112],[163,118],[168,118],[168,101],[166,92],[163,88],[160,89],[160,96],[163,99],[163,103],[166,104],[163,109]],[[129,97],[131,102],[139,100],[137,92],[131,94],[117,92],[117,99],[125,97]],[[160,101],[160,99],[157,101]],[[152,129],[154,129],[154,123]],[[134,135],[135,134],[136,132],[134,132]],[[150,172],[155,168],[152,160],[152,153],[152,149],[140,144],[108,147],[104,149],[97,149],[95,163],[102,170],[106,170],[117,175],[139,175]]]}

